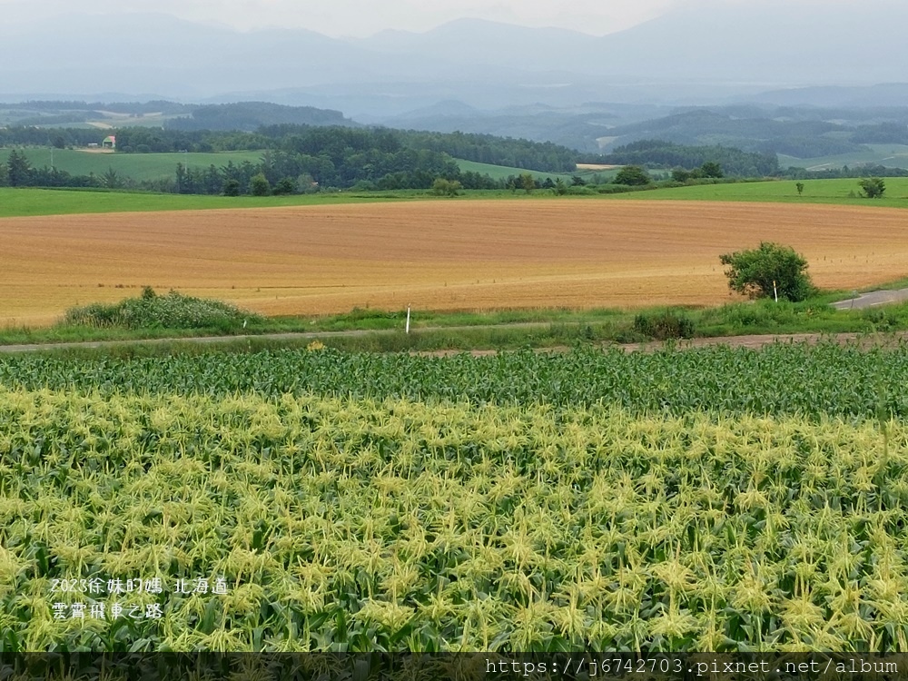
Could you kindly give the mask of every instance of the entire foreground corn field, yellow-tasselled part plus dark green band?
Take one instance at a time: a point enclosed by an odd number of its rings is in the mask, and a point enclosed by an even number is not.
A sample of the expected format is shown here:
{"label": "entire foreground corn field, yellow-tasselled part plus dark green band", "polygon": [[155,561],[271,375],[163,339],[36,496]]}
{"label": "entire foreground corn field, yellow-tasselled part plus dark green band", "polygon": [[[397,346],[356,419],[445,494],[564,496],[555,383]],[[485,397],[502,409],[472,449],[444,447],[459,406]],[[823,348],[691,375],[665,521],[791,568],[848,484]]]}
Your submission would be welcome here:
{"label": "entire foreground corn field, yellow-tasselled part plus dark green band", "polygon": [[7,358],[0,651],[908,651],[906,359]]}

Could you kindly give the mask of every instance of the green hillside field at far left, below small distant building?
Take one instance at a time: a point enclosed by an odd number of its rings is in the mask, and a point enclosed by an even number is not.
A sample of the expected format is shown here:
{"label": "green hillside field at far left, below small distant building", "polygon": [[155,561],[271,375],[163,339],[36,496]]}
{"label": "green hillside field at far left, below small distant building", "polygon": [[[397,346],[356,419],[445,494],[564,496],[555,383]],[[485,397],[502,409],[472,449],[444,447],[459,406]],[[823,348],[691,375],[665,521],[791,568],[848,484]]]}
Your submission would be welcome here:
{"label": "green hillside field at far left, below small distant building", "polygon": [[[99,133],[99,142],[103,133]],[[28,147],[24,150],[29,163],[35,168],[51,167],[51,149],[49,147]],[[109,168],[125,177],[130,177],[139,182],[143,180],[160,180],[173,177],[176,173],[176,164],[190,168],[208,168],[214,164],[217,167],[226,165],[229,161],[234,164],[249,161],[259,163],[262,152],[223,152],[223,153],[104,153],[89,152],[79,149],[54,149],[54,168],[58,168],[73,175],[87,175],[94,173],[102,175]],[[9,156],[9,149],[0,149],[0,163],[4,163]]]}

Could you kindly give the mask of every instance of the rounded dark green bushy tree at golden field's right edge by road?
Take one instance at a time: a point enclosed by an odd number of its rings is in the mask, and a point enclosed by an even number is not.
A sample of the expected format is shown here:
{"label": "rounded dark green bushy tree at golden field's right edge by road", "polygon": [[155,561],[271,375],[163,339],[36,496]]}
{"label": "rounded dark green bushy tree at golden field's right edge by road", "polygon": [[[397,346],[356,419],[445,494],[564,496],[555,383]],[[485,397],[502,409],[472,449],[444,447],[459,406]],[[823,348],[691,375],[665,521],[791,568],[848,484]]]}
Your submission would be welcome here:
{"label": "rounded dark green bushy tree at golden field's right edge by road", "polygon": [[728,265],[728,288],[751,298],[779,298],[804,301],[815,289],[807,274],[807,261],[791,246],[761,242],[759,248],[719,256]]}

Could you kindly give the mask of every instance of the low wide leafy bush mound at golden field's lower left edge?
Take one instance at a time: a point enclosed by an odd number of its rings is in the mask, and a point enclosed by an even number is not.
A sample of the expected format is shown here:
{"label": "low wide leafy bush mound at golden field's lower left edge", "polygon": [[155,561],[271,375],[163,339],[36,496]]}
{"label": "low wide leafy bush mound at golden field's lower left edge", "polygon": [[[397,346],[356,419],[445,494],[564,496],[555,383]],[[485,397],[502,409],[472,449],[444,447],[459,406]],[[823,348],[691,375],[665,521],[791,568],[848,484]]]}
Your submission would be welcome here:
{"label": "low wide leafy bush mound at golden field's lower left edge", "polygon": [[123,329],[231,329],[262,317],[223,301],[184,296],[177,291],[158,295],[149,286],[140,298],[112,304],[94,303],[66,311],[67,324]]}

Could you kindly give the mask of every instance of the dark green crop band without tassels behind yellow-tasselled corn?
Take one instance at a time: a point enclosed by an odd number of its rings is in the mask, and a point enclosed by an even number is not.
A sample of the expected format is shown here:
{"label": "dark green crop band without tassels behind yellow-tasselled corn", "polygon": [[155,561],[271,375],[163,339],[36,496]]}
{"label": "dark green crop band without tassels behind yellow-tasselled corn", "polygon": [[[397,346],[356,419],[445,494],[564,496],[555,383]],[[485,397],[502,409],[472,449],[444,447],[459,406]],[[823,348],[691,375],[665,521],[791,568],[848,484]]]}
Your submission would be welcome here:
{"label": "dark green crop band without tassels behind yellow-tasselled corn", "polygon": [[691,410],[849,417],[908,416],[908,345],[715,347],[655,353],[577,349],[493,357],[206,352],[115,359],[0,359],[0,386],[114,393],[319,394],[357,398],[613,404],[635,413]]}

